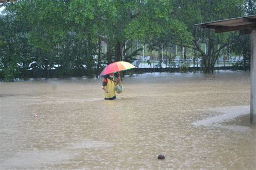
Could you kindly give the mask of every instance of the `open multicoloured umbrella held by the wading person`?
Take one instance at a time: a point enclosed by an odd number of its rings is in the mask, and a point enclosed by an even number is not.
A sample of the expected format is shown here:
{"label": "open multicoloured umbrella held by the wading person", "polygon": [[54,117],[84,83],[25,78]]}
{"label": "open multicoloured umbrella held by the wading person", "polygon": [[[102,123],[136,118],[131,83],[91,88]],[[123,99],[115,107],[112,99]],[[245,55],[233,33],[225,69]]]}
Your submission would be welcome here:
{"label": "open multicoloured umbrella held by the wading person", "polygon": [[122,70],[132,69],[135,68],[131,63],[125,61],[117,61],[113,62],[110,65],[107,65],[100,75],[106,75],[114,72],[120,72]]}

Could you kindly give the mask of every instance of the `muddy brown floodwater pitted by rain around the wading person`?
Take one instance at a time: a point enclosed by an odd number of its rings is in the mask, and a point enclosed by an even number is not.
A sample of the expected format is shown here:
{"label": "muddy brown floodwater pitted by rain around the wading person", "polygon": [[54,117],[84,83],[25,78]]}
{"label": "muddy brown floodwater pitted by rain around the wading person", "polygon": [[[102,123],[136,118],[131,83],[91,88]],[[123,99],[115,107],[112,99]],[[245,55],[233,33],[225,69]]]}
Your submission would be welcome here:
{"label": "muddy brown floodwater pitted by rain around the wading person", "polygon": [[1,82],[1,169],[255,169],[250,73],[134,75],[114,101],[102,81]]}

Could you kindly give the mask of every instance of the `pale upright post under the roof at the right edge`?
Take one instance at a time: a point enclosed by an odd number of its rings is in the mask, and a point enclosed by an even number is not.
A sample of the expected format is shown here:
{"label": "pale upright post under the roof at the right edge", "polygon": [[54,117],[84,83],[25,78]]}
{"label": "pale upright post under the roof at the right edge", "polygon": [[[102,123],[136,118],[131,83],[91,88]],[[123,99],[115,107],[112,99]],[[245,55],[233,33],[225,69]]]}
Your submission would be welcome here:
{"label": "pale upright post under the roof at the right edge", "polygon": [[251,32],[251,124],[256,124],[256,30]]}

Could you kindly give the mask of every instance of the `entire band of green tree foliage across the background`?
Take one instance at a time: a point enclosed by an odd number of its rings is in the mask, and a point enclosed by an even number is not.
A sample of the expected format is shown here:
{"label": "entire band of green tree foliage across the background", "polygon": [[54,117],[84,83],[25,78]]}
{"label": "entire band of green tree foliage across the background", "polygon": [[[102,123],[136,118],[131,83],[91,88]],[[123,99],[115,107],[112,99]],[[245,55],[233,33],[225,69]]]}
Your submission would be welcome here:
{"label": "entire band of green tree foliage across the background", "polygon": [[[94,76],[99,40],[108,49],[99,70],[115,60],[132,62],[142,51],[135,45],[140,42],[157,51],[170,43],[197,49],[204,71],[211,72],[219,49],[237,34],[195,30],[194,24],[253,14],[254,9],[252,0],[17,1],[0,16],[0,76],[6,81]],[[201,49],[205,43],[207,53]],[[240,44],[234,51],[242,49],[248,59],[247,48]],[[186,72],[187,66],[181,67]]]}

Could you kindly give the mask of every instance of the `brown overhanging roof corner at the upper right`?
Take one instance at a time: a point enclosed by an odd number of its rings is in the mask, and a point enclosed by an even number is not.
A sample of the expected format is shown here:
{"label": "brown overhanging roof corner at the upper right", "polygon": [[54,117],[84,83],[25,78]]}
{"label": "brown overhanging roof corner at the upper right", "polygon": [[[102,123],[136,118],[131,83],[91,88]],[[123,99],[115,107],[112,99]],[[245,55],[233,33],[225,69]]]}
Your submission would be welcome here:
{"label": "brown overhanging roof corner at the upper right", "polygon": [[256,15],[217,20],[214,22],[196,24],[207,29],[214,29],[215,33],[240,31],[242,34],[250,34],[252,30],[256,30]]}

